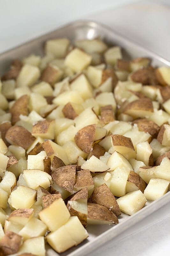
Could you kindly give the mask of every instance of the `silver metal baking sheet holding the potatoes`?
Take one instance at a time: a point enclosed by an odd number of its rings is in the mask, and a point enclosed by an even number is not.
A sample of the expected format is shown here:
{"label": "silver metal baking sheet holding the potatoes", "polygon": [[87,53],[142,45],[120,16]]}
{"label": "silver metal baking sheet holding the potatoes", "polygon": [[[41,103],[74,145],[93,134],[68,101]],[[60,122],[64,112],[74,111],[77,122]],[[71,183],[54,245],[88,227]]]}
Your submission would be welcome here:
{"label": "silver metal baking sheet holding the potatoes", "polygon": [[[165,60],[158,56],[157,54],[145,49],[144,47],[129,41],[112,29],[93,22],[93,21],[75,21],[69,23],[68,25],[58,28],[44,36],[38,37],[26,44],[22,44],[10,51],[4,52],[0,55],[0,75],[4,74],[9,68],[12,60],[16,58],[23,58],[31,53],[43,55],[43,46],[46,40],[56,38],[56,37],[67,37],[73,43],[77,39],[93,39],[100,37],[107,44],[119,45],[122,47],[123,55],[125,58],[136,58],[141,56],[147,56],[152,59],[152,64],[155,66],[167,65],[170,66],[170,61]],[[87,231],[89,237],[81,244],[76,247],[63,252],[61,254],[56,253],[47,245],[47,255],[48,256],[84,256],[92,252],[93,250],[99,248],[106,242],[114,237],[118,236],[127,228],[135,225],[140,220],[144,219],[148,215],[152,214],[163,205],[170,202],[170,191],[166,195],[162,196],[154,202],[147,202],[145,207],[139,212],[132,216],[123,214],[119,216],[119,224],[115,226],[88,226]]]}

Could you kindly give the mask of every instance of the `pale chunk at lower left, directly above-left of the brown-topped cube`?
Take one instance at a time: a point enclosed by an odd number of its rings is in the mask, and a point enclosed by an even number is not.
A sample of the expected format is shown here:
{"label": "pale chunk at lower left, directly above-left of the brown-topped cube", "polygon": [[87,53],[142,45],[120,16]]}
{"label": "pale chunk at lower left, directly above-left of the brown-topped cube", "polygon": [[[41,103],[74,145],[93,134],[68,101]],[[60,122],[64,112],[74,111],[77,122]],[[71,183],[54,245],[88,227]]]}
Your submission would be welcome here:
{"label": "pale chunk at lower left, directly above-left of the brown-topped cube", "polygon": [[30,208],[36,202],[37,191],[25,186],[18,186],[11,192],[8,203],[15,209]]}

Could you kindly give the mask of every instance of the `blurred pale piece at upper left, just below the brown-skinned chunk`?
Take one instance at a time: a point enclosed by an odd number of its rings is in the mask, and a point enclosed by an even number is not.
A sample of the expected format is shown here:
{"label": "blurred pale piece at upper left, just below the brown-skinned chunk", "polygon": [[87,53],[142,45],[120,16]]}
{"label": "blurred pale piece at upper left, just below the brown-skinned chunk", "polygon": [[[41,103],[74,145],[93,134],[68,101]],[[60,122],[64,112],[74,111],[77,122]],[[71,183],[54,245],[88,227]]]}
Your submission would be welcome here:
{"label": "blurred pale piece at upper left, just below the brown-skinned chunk", "polygon": [[53,95],[53,89],[50,84],[46,82],[41,82],[39,84],[34,85],[31,88],[32,92],[39,93],[43,96],[52,96]]}

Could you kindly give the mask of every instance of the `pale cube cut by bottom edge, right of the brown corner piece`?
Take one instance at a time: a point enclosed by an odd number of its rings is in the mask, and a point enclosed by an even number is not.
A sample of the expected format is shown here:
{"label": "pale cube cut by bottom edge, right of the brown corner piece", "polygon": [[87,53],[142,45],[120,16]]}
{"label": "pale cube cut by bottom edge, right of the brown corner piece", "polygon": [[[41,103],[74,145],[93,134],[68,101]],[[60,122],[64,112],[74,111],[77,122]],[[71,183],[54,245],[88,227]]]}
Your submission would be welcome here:
{"label": "pale cube cut by bottom edge, right of the brown corner piece", "polygon": [[[18,253],[31,253],[36,256],[45,256],[45,242],[43,236],[27,239],[20,247]],[[22,255],[22,254],[21,254]],[[31,256],[31,255],[30,255]]]}

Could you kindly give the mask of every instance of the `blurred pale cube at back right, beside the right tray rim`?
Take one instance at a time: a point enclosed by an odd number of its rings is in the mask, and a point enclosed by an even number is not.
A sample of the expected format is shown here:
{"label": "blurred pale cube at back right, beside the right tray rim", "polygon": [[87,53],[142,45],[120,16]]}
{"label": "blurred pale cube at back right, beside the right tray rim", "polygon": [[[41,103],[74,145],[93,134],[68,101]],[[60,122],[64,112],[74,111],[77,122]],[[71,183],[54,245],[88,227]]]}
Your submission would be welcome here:
{"label": "blurred pale cube at back right, beside the right tray rim", "polygon": [[116,60],[122,59],[122,52],[119,46],[109,48],[105,54],[105,61],[107,64],[115,65]]}

